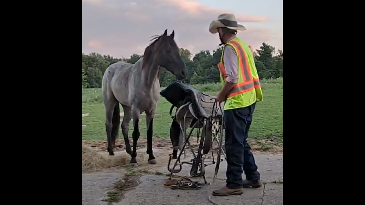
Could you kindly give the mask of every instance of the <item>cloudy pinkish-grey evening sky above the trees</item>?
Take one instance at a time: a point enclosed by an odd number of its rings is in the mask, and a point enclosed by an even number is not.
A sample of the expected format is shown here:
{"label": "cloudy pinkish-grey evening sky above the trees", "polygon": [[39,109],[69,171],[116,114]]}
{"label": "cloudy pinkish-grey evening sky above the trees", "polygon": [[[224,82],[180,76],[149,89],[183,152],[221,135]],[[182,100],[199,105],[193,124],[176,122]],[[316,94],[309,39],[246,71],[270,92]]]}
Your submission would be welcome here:
{"label": "cloudy pinkish-grey evening sky above the trees", "polygon": [[150,37],[166,29],[193,55],[212,52],[220,40],[209,24],[222,13],[246,27],[237,36],[253,49],[265,42],[283,50],[283,0],[82,0],[82,52],[142,55]]}

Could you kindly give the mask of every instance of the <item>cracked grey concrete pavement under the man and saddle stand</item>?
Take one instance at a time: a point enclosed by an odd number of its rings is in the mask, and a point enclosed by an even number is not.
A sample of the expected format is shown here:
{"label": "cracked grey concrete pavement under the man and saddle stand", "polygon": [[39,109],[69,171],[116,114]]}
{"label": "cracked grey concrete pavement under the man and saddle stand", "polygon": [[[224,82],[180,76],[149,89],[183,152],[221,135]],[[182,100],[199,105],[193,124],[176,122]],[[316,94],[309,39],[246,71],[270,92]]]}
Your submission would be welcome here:
{"label": "cracked grey concrete pavement under the man and saddle stand", "polygon": [[[211,204],[239,204],[239,205],[282,205],[283,204],[283,156],[269,153],[254,153],[261,181],[260,188],[245,188],[238,196],[216,197],[213,190],[225,185],[226,162],[221,162],[219,173],[212,185],[202,185],[199,190],[172,190],[162,187],[168,178],[163,175],[146,174],[139,179],[139,185],[124,194],[122,201],[115,205],[211,205]],[[182,159],[183,160],[183,159]],[[151,165],[152,166],[152,165]],[[152,167],[151,167],[152,168]],[[154,170],[167,173],[166,166],[154,167]],[[153,169],[151,169],[153,170]],[[212,183],[215,165],[205,167],[208,183]],[[189,176],[190,166],[183,165],[183,170],[177,175]],[[82,174],[82,204],[106,205],[101,201],[113,183],[122,179],[125,171],[110,171],[103,173]],[[244,174],[242,176],[245,178]],[[202,178],[194,178],[201,181]],[[210,196],[210,200],[208,200]],[[111,205],[109,203],[108,205]]]}

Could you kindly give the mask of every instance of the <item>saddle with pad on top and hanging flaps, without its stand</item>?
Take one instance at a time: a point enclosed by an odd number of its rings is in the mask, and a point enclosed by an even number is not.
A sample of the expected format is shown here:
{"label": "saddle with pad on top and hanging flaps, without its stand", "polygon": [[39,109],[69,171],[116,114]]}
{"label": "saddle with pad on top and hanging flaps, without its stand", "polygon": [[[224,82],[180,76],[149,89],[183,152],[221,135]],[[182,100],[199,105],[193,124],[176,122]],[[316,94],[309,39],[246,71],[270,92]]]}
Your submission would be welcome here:
{"label": "saddle with pad on top and hanging flaps, without its stand", "polygon": [[[170,139],[174,149],[178,146],[178,149],[182,150],[186,128],[203,128],[201,132],[201,137],[205,137],[203,154],[207,154],[211,148],[212,120],[223,117],[216,97],[181,82],[172,82],[160,94],[172,104],[170,115],[173,117],[173,122],[170,127]],[[172,115],[174,107],[176,107],[176,112],[175,115]],[[174,123],[178,123],[180,126]],[[178,127],[180,127],[180,131],[176,130]]]}

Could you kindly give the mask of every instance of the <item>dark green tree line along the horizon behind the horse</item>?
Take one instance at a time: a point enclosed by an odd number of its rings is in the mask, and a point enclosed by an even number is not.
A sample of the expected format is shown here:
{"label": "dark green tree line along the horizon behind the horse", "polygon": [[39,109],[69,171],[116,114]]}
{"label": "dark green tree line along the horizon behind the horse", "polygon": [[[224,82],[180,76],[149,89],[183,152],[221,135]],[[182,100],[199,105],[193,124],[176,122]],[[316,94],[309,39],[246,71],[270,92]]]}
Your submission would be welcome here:
{"label": "dark green tree line along the horizon behind the horse", "polygon": [[[188,76],[183,81],[185,84],[204,84],[219,82],[217,64],[222,55],[223,46],[213,51],[200,51],[192,57],[189,50],[180,48],[179,53],[183,59]],[[251,49],[252,50],[252,49]],[[255,66],[261,79],[283,77],[283,51],[275,50],[273,46],[261,44],[260,49],[253,51]],[[98,53],[82,53],[82,88],[101,88],[101,80],[107,67],[112,63],[125,61],[135,63],[143,55],[133,54],[130,58],[114,58],[110,55]],[[174,76],[168,72],[162,72],[161,86],[167,86],[174,81]]]}

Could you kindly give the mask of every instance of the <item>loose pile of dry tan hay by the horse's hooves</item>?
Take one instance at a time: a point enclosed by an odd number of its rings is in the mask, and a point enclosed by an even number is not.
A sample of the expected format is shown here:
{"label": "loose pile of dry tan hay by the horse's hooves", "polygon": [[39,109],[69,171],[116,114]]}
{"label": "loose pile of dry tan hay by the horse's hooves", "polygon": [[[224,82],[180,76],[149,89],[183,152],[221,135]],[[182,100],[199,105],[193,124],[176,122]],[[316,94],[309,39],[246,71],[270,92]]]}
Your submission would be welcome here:
{"label": "loose pile of dry tan hay by the horse's hooves", "polygon": [[[146,154],[137,153],[137,161],[145,160]],[[129,163],[131,156],[126,152],[116,153],[108,156],[107,153],[100,153],[82,144],[82,172],[100,171],[111,167],[122,166]]]}

